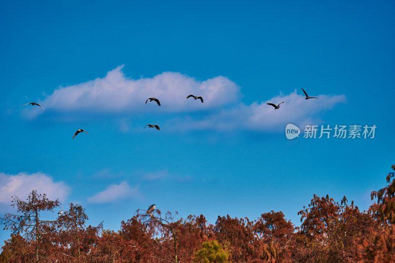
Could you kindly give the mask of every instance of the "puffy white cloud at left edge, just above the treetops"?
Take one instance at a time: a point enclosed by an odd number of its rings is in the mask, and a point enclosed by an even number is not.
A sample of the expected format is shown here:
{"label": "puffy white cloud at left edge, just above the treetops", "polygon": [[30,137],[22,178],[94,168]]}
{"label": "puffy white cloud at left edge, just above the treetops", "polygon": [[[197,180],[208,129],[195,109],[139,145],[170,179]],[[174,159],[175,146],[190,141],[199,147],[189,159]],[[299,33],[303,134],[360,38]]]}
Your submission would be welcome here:
{"label": "puffy white cloud at left edge, just above the treetops", "polygon": [[64,200],[70,192],[70,188],[63,182],[55,183],[52,177],[40,172],[17,175],[0,173],[0,203],[10,204],[12,195],[25,200],[32,190],[37,190],[39,194],[45,193],[50,200]]}

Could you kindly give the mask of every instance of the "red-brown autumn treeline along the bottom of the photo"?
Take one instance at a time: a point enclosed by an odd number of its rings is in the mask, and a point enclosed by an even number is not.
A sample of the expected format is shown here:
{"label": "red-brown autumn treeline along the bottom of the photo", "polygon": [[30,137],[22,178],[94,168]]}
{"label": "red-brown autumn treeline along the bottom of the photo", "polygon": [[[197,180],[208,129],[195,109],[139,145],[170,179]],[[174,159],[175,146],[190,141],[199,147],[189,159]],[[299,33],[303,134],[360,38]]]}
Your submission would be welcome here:
{"label": "red-brown autumn treeline along the bottom of the photo", "polygon": [[[395,165],[392,166],[395,171]],[[85,209],[70,203],[55,221],[41,220],[59,200],[33,190],[26,201],[14,196],[16,214],[1,219],[11,238],[4,241],[0,262],[7,263],[338,263],[395,262],[395,177],[371,193],[375,202],[359,211],[344,196],[339,202],[314,195],[295,227],[282,212],[257,220],[203,215],[175,219],[160,210],[137,210],[120,230],[102,224],[85,226]]]}

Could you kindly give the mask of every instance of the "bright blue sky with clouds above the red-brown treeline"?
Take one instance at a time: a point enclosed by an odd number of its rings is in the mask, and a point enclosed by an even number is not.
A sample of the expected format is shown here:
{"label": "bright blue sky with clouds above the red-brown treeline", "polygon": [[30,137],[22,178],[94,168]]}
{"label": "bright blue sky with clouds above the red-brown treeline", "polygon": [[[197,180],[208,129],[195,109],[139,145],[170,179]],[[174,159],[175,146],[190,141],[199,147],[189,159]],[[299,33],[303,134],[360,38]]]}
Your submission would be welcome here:
{"label": "bright blue sky with clouds above the red-brown treeline", "polygon": [[[392,1],[1,3],[0,213],[31,188],[109,229],[153,203],[210,223],[275,210],[299,225],[314,193],[367,209],[395,164],[394,11]],[[21,106],[34,101],[45,110]],[[287,140],[287,123],[377,129]],[[89,134],[73,140],[79,128]]]}

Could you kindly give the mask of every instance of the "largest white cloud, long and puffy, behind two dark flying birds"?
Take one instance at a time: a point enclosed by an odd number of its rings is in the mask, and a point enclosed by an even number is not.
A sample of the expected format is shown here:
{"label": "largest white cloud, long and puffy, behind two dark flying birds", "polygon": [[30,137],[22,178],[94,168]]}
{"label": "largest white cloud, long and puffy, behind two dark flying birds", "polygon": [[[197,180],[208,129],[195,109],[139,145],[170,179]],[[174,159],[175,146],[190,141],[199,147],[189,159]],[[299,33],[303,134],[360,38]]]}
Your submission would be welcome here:
{"label": "largest white cloud, long and puffy, behind two dark flying birds", "polygon": [[[131,79],[122,67],[110,71],[103,78],[60,87],[42,102],[45,109],[59,112],[86,111],[91,113],[125,113],[158,111],[155,102],[147,103],[149,97],[159,99],[161,112],[196,111],[218,108],[237,101],[239,87],[224,76],[205,81],[174,72],[164,72],[152,78]],[[204,103],[186,97],[202,96]],[[35,111],[34,114],[40,114]]]}

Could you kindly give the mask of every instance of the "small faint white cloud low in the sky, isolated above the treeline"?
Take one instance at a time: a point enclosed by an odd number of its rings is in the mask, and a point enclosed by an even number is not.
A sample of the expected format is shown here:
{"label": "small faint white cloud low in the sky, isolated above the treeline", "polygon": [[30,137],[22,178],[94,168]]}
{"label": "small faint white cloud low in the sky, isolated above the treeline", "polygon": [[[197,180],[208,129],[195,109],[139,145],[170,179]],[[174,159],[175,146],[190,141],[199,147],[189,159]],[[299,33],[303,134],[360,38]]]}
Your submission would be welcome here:
{"label": "small faint white cloud low in the sky, isolated above the treeline", "polygon": [[119,199],[138,196],[140,193],[137,187],[131,188],[126,181],[122,181],[119,185],[111,185],[104,191],[88,197],[88,201],[95,204],[112,203]]}

